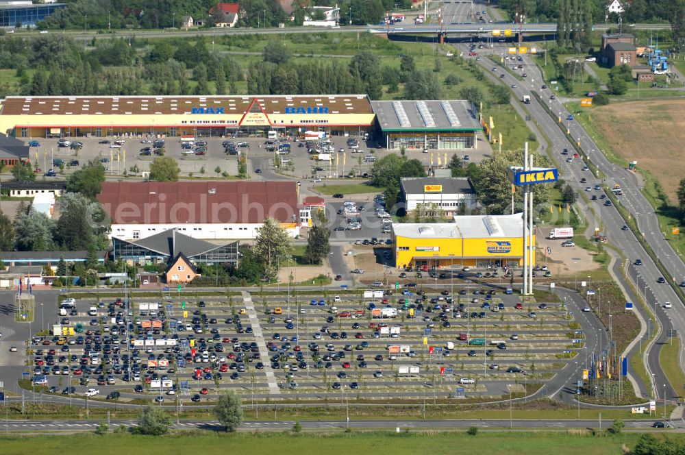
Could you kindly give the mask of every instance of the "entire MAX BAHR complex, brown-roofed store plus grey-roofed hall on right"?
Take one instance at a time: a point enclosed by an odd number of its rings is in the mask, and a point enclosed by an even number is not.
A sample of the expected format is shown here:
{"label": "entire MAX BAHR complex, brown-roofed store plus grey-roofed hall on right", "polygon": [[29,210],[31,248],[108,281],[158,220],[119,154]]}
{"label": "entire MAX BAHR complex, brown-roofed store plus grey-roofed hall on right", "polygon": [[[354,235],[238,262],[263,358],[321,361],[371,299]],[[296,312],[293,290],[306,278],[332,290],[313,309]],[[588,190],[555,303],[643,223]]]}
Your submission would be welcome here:
{"label": "entire MAX BAHR complex, brown-roofed store plus grey-roofed hall on right", "polygon": [[481,129],[466,101],[370,101],[366,95],[7,97],[0,102],[0,132],[17,138],[375,132],[389,149],[468,149]]}

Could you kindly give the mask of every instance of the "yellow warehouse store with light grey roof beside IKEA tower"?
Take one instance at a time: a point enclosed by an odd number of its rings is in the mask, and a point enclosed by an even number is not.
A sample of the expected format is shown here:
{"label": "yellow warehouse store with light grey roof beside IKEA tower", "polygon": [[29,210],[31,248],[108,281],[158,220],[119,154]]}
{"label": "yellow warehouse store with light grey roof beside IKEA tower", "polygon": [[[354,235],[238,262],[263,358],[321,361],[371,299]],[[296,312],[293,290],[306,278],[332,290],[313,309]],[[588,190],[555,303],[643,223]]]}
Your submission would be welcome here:
{"label": "yellow warehouse store with light grey roof beside IKEA tower", "polygon": [[523,265],[523,215],[453,217],[453,223],[393,223],[399,268]]}

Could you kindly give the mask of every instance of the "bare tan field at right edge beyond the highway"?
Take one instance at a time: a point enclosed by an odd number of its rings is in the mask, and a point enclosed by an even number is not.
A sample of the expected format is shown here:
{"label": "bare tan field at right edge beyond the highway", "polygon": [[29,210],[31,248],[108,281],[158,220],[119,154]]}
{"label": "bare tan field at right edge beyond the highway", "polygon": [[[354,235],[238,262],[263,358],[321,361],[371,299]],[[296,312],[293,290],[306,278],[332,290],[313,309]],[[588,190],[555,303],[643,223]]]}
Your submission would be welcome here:
{"label": "bare tan field at right edge beyond the highway", "polygon": [[656,177],[671,201],[677,200],[675,192],[685,175],[685,101],[615,103],[595,110],[593,121],[616,153],[636,160],[638,167]]}

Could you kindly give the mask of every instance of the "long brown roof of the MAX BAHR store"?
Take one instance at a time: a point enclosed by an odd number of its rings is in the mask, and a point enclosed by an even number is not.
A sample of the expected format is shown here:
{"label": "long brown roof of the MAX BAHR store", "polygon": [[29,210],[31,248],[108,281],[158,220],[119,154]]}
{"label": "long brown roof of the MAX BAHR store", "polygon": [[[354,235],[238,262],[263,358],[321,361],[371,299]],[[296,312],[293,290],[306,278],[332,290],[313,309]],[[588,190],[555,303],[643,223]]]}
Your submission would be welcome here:
{"label": "long brown roof of the MAX BAHR store", "polygon": [[286,108],[327,107],[330,114],[371,114],[366,95],[226,95],[121,97],[6,97],[2,115],[190,114],[192,108],[223,108],[225,114],[245,114],[253,99],[266,114]]}

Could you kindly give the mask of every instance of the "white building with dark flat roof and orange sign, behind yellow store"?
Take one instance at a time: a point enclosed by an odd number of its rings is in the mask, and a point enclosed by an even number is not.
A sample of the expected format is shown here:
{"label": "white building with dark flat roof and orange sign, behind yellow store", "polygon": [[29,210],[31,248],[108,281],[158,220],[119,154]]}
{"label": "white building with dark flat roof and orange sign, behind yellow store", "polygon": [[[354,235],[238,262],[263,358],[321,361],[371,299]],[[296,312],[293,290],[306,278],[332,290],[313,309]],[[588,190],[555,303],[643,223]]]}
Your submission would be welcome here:
{"label": "white building with dark flat roof and orange sign, behind yellow store", "polygon": [[429,216],[452,217],[476,207],[475,189],[468,177],[403,177],[399,186],[409,213],[423,208]]}

